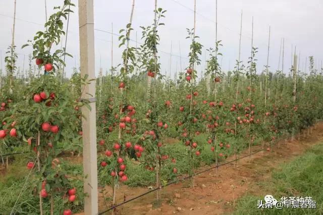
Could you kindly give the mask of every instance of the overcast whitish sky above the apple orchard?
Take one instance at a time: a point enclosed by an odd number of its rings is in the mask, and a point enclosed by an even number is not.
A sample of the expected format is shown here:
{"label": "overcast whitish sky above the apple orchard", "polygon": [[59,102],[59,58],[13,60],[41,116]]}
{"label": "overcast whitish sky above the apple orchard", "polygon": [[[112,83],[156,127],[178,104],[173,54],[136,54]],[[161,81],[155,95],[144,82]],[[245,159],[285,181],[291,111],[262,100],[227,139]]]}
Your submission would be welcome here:
{"label": "overcast whitish sky above the apple orchard", "polygon": [[[43,30],[45,22],[44,0],[17,0],[16,14],[16,36],[18,66],[23,66],[25,55],[25,69],[28,66],[28,54],[30,48],[20,49],[35,32]],[[79,29],[78,29],[78,7],[77,1],[75,12],[71,14],[67,51],[74,55],[68,58],[67,71],[71,74],[72,67],[79,65]],[[94,28],[103,31],[118,33],[129,22],[131,0],[95,0],[94,1]],[[205,66],[205,48],[213,47],[215,41],[215,0],[196,1],[196,34],[204,46],[201,56],[202,65],[197,67],[199,71]],[[60,6],[63,0],[47,0],[47,14],[52,13],[54,6]],[[160,28],[159,52],[162,71],[164,74],[175,74],[187,66],[187,55],[189,52],[189,40],[186,28],[193,28],[194,0],[159,0],[158,7],[167,10],[164,23],[166,26]],[[147,26],[153,22],[153,0],[136,0],[133,17],[131,38],[138,44],[141,38],[139,26]],[[305,65],[305,57],[313,55],[317,67],[323,60],[323,1],[322,0],[218,0],[218,37],[224,45],[221,52],[222,67],[224,70],[233,68],[238,58],[240,16],[243,11],[242,22],[242,45],[241,59],[246,63],[250,56],[251,46],[251,20],[254,17],[254,46],[259,48],[256,56],[258,59],[258,71],[266,64],[268,27],[271,26],[271,45],[269,64],[272,69],[278,68],[281,38],[285,38],[285,73],[291,65],[292,45],[300,51],[300,67]],[[11,44],[12,25],[14,13],[14,0],[0,0],[0,51],[2,52],[2,66],[4,66],[4,52]],[[65,25],[66,27],[66,25]],[[111,34],[95,30],[95,65],[96,75],[101,65],[103,70],[111,67]],[[118,48],[117,36],[114,36],[114,65],[120,63],[121,49]],[[65,41],[65,38],[64,38]],[[179,51],[179,42],[181,53]],[[171,61],[172,43],[172,61]],[[131,42],[135,46],[135,42]],[[178,57],[181,54],[182,60]],[[221,58],[220,58],[221,59]],[[170,62],[172,62],[170,64]],[[308,65],[308,60],[307,60]],[[0,65],[1,66],[1,65]],[[176,67],[177,66],[177,67]]]}

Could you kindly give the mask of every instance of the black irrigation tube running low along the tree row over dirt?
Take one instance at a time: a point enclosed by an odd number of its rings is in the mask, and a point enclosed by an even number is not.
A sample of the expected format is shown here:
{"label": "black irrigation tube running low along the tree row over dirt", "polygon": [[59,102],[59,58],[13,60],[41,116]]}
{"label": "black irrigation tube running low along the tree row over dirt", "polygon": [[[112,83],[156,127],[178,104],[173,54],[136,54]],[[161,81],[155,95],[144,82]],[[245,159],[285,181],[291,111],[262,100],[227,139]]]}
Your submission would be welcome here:
{"label": "black irrigation tube running low along the tree row over dirt", "polygon": [[[259,152],[261,152],[261,151],[263,151],[263,149],[261,149],[261,150],[259,150],[259,151],[256,151],[256,152],[254,152],[254,153],[252,153],[252,154],[250,154],[250,155],[246,155],[246,156],[243,156],[243,157],[241,157],[241,158],[235,159],[235,160],[233,160],[233,161],[229,161],[229,162],[226,162],[226,163],[220,164],[220,165],[218,165],[218,166],[214,166],[214,167],[208,168],[208,169],[206,169],[206,170],[203,170],[203,171],[201,171],[201,172],[195,173],[195,174],[194,174],[194,176],[195,176],[195,175],[199,175],[199,174],[204,173],[204,172],[207,172],[207,171],[209,171],[209,170],[211,170],[211,169],[219,168],[219,167],[221,167],[221,166],[224,166],[224,165],[230,164],[230,163],[232,163],[232,162],[239,161],[239,160],[241,160],[241,159],[243,159],[243,158],[247,158],[247,157],[252,156],[252,155],[254,155],[254,154],[257,154],[257,153],[259,153]],[[169,182],[168,184],[163,185],[163,186],[161,186],[161,187],[157,187],[157,188],[154,188],[154,189],[152,189],[152,190],[149,190],[148,192],[142,193],[141,195],[138,195],[138,196],[136,196],[136,197],[133,197],[133,198],[131,198],[131,199],[127,200],[127,201],[123,201],[123,202],[121,202],[121,203],[119,203],[119,204],[116,204],[116,205],[114,205],[114,206],[110,207],[109,209],[106,209],[106,210],[104,210],[104,211],[102,211],[102,212],[99,212],[99,213],[98,213],[98,215],[102,215],[103,213],[106,213],[107,211],[110,211],[110,210],[112,210],[112,209],[114,209],[114,208],[117,208],[117,207],[119,207],[119,206],[121,206],[121,205],[123,205],[123,204],[125,204],[125,203],[128,203],[128,202],[133,201],[133,200],[135,200],[135,199],[137,199],[137,198],[140,198],[140,197],[142,197],[142,196],[144,196],[144,195],[147,195],[147,194],[149,194],[149,193],[151,193],[151,192],[154,192],[154,191],[156,191],[156,190],[158,190],[158,189],[161,189],[161,188],[163,188],[163,187],[167,187],[167,186],[169,186],[169,185],[171,185],[171,184],[174,184],[174,183],[176,183],[176,182],[178,182],[178,181],[182,181],[182,180],[185,180],[185,179],[188,179],[188,178],[191,178],[191,176],[187,176],[187,177],[182,178],[182,179],[180,179],[180,180],[172,181],[172,182]]]}

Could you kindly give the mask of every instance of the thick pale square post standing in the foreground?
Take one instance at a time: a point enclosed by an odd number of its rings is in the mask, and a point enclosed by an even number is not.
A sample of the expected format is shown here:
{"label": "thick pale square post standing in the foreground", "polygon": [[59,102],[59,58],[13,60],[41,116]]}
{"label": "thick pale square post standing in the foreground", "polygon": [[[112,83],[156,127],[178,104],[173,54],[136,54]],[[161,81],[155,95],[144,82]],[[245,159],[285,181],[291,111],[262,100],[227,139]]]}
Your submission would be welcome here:
{"label": "thick pale square post standing in the foreground", "polygon": [[[79,36],[81,77],[95,79],[93,0],[79,0]],[[95,95],[95,82],[84,86],[82,99],[90,99],[89,95]],[[89,105],[91,110],[82,107],[84,213],[97,214],[96,108],[93,101]]]}

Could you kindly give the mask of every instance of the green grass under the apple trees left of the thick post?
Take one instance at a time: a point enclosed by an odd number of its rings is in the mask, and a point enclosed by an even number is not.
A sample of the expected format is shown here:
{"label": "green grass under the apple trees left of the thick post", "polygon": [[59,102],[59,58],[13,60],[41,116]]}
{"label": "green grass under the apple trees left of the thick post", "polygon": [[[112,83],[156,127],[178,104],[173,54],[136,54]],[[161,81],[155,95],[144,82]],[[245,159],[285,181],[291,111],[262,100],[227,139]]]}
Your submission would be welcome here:
{"label": "green grass under the apple trees left of the thick post", "polygon": [[[18,195],[21,193],[13,214],[28,214],[38,215],[39,210],[39,196],[35,194],[33,183],[38,181],[37,177],[33,175],[28,179],[25,188],[23,189],[25,180],[29,173],[26,168],[26,163],[30,161],[29,154],[14,156],[14,162],[9,165],[8,170],[4,176],[0,177],[0,214],[7,215],[11,214],[12,208],[14,207]],[[70,168],[74,171],[82,170],[82,165],[71,164]],[[83,182],[80,182],[82,184]],[[82,190],[80,190],[82,192]],[[64,210],[64,202],[61,196],[57,196],[54,199],[55,211]],[[80,211],[83,209],[83,200],[79,201],[78,205],[71,206],[73,211]],[[49,198],[43,198],[43,212],[49,214],[50,202]],[[58,214],[58,213],[55,213]]]}

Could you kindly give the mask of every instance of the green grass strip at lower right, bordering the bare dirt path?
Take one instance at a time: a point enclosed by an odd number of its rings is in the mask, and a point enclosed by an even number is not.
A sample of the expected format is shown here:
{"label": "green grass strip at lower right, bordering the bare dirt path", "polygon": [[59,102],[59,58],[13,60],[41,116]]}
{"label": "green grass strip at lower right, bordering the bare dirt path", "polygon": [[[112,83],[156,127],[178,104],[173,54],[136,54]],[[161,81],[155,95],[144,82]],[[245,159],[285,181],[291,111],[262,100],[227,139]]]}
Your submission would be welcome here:
{"label": "green grass strip at lower right, bordering the bare dirt path", "polygon": [[[322,164],[323,143],[313,146],[302,156],[274,171],[272,179],[263,183],[262,195],[243,196],[239,199],[234,214],[323,214]],[[266,194],[272,194],[277,200],[282,196],[311,196],[316,201],[316,209],[258,209],[257,200],[263,200]]]}

